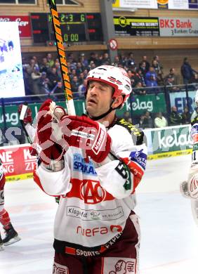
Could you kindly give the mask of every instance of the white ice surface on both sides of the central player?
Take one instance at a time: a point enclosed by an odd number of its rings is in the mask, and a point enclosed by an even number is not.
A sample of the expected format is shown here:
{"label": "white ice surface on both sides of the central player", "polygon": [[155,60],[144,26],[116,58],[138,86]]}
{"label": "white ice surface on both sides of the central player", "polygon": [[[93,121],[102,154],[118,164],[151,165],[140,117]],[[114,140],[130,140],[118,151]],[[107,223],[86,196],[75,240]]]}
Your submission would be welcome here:
{"label": "white ice surface on both sides of the central player", "polygon": [[[147,164],[137,190],[140,274],[197,274],[198,228],[190,200],[179,193],[189,166],[190,155]],[[51,274],[54,198],[32,180],[7,183],[5,192],[5,208],[22,240],[0,252],[0,274]]]}

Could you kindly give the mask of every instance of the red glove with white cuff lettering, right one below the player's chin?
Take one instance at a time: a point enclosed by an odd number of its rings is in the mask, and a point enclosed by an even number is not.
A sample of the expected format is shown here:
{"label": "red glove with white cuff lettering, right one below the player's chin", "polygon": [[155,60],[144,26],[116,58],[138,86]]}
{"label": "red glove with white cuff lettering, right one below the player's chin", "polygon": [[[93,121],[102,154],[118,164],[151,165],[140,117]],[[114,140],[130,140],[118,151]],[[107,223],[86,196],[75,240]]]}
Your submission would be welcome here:
{"label": "red glove with white cuff lettering, right one below the player's chin", "polygon": [[86,116],[64,116],[60,121],[63,139],[68,145],[81,148],[94,162],[103,162],[111,148],[105,126]]}

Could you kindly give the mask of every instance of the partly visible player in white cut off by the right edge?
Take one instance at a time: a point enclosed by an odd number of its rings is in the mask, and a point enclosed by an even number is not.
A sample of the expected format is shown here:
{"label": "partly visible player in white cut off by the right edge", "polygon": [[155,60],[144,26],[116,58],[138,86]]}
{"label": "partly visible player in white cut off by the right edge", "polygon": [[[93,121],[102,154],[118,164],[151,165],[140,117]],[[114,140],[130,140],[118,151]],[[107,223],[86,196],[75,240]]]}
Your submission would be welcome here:
{"label": "partly visible player in white cut off by the right edge", "polygon": [[[198,106],[198,90],[194,98],[194,104]],[[191,199],[192,215],[198,225],[198,116],[192,119],[191,125],[192,163],[187,181],[180,184],[180,191],[185,197]]]}

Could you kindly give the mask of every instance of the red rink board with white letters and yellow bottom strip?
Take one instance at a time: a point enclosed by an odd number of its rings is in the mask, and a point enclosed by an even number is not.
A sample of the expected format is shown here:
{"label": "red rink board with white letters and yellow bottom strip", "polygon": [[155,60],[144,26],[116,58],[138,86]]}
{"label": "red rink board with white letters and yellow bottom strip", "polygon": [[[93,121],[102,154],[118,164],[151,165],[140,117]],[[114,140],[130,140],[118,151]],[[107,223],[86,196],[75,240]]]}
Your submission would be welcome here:
{"label": "red rink board with white letters and yellow bottom strip", "polygon": [[32,178],[37,158],[29,154],[29,145],[1,147],[0,159],[7,181]]}

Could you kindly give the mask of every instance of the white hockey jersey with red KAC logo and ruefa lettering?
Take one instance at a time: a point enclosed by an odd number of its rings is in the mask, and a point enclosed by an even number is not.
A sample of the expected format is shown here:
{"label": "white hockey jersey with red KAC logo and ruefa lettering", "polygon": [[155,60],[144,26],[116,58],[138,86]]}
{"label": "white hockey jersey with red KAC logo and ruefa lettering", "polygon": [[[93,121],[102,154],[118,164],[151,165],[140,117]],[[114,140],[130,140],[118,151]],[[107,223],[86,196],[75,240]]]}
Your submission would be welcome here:
{"label": "white hockey jersey with red KAC logo and ruefa lettering", "polygon": [[[94,168],[84,161],[79,148],[65,154],[65,168],[47,171],[40,165],[34,181],[48,195],[60,195],[55,216],[55,242],[95,247],[105,244],[124,229],[135,207],[135,189],[146,165],[143,132],[119,119],[108,133],[117,159]],[[57,243],[56,243],[57,245]]]}

